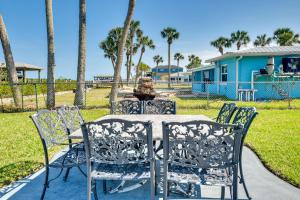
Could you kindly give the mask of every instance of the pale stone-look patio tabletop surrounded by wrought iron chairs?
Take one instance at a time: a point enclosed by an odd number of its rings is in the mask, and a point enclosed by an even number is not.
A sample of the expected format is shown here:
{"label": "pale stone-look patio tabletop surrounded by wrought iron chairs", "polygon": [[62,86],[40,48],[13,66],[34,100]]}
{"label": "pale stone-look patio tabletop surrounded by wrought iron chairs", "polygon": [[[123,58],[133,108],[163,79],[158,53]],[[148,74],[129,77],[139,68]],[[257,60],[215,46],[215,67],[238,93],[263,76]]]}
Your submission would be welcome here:
{"label": "pale stone-look patio tabletop surrounded by wrought iron chairs", "polygon": [[[187,122],[192,120],[203,120],[212,121],[209,117],[205,115],[106,115],[95,121],[100,121],[104,119],[123,119],[129,121],[151,121],[152,122],[152,134],[154,141],[162,141],[162,122]],[[70,134],[70,139],[83,139],[81,129],[78,129]]]}

